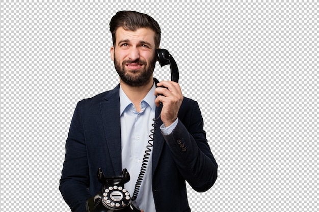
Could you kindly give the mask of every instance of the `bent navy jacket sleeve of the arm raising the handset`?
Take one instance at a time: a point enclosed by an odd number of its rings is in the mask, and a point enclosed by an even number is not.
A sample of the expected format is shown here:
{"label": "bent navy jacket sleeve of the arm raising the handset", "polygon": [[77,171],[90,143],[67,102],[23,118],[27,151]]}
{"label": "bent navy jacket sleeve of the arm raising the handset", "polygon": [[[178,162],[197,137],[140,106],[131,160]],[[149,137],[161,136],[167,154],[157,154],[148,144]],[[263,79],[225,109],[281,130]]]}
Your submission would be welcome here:
{"label": "bent navy jacket sleeve of the arm raising the handset", "polygon": [[198,103],[181,108],[175,129],[164,139],[181,175],[198,192],[207,191],[217,179],[218,165],[207,143]]}

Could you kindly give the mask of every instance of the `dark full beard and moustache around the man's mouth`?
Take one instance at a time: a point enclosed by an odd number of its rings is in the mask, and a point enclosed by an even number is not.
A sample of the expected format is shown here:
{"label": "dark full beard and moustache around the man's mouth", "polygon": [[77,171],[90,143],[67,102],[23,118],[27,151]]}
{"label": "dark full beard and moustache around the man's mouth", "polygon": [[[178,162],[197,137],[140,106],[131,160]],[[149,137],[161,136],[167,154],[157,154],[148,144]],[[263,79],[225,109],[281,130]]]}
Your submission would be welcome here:
{"label": "dark full beard and moustache around the man's mouth", "polygon": [[[140,63],[143,64],[143,70],[125,70],[125,64],[127,63]],[[156,63],[156,57],[150,61],[149,65],[147,65],[146,60],[137,59],[135,61],[132,60],[124,60],[122,64],[116,59],[114,55],[114,66],[115,70],[120,76],[121,80],[129,86],[139,87],[146,85],[153,76],[154,68]]]}

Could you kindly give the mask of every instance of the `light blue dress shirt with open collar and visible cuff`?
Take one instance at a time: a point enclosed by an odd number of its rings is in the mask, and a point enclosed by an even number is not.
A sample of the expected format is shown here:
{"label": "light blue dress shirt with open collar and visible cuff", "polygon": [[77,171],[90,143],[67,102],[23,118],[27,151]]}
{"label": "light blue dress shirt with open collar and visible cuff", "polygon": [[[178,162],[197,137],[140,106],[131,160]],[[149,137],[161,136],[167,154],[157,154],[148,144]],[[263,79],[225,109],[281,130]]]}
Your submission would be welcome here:
{"label": "light blue dress shirt with open collar and visible cuff", "polygon": [[[141,111],[137,112],[134,104],[126,96],[120,86],[120,112],[121,112],[121,148],[122,148],[122,169],[126,168],[130,175],[130,180],[124,188],[132,196],[135,184],[138,179],[143,156],[148,145],[149,135],[153,129],[153,118],[155,117],[155,83],[141,101]],[[160,127],[163,134],[170,134],[177,125],[177,120],[169,127]],[[155,211],[155,204],[152,192],[152,152],[147,163],[137,203],[140,209],[146,212]]]}

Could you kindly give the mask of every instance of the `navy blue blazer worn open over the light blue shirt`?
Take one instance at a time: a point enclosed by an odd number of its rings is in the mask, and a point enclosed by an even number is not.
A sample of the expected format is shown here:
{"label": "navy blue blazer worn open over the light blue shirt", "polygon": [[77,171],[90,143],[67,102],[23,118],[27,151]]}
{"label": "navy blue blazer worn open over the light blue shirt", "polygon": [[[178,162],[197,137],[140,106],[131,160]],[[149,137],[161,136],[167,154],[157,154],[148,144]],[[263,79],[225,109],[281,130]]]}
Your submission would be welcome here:
{"label": "navy blue blazer worn open over the light blue shirt", "polygon": [[[161,107],[157,107],[155,117],[160,113]],[[184,98],[178,118],[171,135],[162,135],[161,119],[156,124],[152,158],[156,211],[190,211],[185,180],[194,190],[204,192],[217,178],[218,166],[206,140],[197,102]],[[98,168],[106,176],[120,175],[125,168],[121,167],[120,129],[119,85],[77,103],[59,187],[72,211],[86,211],[86,200],[101,188]]]}

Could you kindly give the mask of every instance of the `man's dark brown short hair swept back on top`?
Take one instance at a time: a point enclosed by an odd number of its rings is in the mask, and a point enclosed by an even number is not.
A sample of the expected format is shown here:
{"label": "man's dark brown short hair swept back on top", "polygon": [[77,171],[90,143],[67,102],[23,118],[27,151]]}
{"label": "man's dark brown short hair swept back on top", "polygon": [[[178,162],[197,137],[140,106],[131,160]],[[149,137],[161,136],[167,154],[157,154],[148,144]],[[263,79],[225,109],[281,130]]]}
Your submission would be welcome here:
{"label": "man's dark brown short hair swept back on top", "polygon": [[115,33],[119,27],[125,30],[136,31],[138,28],[150,28],[155,32],[155,47],[159,47],[161,42],[161,28],[157,21],[151,16],[136,11],[119,11],[112,17],[110,22],[110,31],[112,33],[113,45],[115,46]]}

